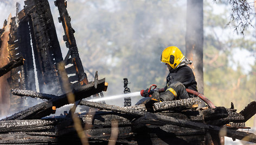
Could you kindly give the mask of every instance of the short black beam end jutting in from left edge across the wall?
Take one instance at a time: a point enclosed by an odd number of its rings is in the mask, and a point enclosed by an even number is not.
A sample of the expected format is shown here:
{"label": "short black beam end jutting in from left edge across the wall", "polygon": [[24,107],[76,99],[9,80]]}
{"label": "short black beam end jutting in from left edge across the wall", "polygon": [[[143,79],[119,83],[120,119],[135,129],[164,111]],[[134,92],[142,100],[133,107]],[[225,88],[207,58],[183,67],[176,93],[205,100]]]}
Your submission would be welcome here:
{"label": "short black beam end jutting in from left edge across the wall", "polygon": [[7,65],[4,65],[4,67],[0,68],[0,77],[7,74],[11,69],[17,68],[23,64],[23,57],[18,57],[17,59],[9,62]]}

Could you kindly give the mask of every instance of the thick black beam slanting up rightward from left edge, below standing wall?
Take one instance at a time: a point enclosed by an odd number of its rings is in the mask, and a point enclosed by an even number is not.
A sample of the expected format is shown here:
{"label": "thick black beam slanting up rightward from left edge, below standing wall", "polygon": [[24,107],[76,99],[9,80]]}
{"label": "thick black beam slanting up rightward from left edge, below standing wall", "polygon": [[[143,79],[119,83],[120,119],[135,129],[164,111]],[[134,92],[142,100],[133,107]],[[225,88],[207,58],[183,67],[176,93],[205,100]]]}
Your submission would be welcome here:
{"label": "thick black beam slanting up rightward from left edge, below standing wall", "polygon": [[73,92],[54,97],[46,102],[37,104],[23,111],[20,111],[14,115],[4,118],[3,120],[25,120],[25,119],[38,119],[48,116],[52,113],[52,107],[60,108],[66,104],[69,104],[67,96],[74,94],[74,101],[82,100],[82,98],[89,97],[93,94],[100,93],[106,88],[105,78],[99,80],[97,88],[94,87],[94,82],[91,82],[85,86],[75,88]]}

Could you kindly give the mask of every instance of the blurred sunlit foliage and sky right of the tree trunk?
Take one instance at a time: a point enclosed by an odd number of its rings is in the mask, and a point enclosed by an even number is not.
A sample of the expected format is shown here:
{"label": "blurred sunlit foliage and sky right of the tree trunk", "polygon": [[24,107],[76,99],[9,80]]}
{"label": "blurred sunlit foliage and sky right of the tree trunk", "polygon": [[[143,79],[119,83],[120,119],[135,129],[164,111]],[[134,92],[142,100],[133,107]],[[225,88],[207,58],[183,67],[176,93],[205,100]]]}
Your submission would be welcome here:
{"label": "blurred sunlit foliage and sky right of the tree trunk", "polygon": [[[220,5],[223,6],[223,5]],[[204,3],[204,95],[215,106],[230,107],[234,103],[238,112],[255,100],[256,77],[255,63],[251,73],[244,70],[246,64],[242,50],[255,53],[253,32],[244,31],[245,37],[239,37],[225,31],[228,20],[226,11],[214,14],[212,5]],[[213,21],[215,19],[215,21]],[[221,30],[220,30],[221,28]],[[210,30],[210,31],[208,31]],[[224,30],[224,32],[223,32]],[[227,29],[226,29],[227,30]],[[241,52],[238,58],[233,58],[236,49]],[[238,61],[239,60],[239,61]],[[236,66],[236,67],[235,67]],[[253,118],[247,122],[253,126]]]}

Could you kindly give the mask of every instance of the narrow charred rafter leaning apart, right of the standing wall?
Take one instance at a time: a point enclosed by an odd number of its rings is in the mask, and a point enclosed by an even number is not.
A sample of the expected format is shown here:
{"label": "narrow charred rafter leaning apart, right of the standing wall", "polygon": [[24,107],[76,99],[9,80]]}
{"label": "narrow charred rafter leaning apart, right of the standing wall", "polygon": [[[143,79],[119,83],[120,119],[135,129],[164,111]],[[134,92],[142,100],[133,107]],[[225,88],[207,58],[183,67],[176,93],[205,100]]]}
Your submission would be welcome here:
{"label": "narrow charred rafter leaning apart, right of the standing wall", "polygon": [[84,72],[80,56],[78,54],[78,47],[75,42],[74,29],[71,26],[71,18],[67,12],[67,2],[65,0],[56,0],[55,5],[59,9],[60,17],[59,22],[62,23],[65,35],[63,40],[66,41],[66,46],[69,49],[67,56],[65,57],[65,63],[67,64],[68,58],[71,56],[72,63],[75,67],[76,75],[78,76],[81,85],[87,84],[87,75]]}

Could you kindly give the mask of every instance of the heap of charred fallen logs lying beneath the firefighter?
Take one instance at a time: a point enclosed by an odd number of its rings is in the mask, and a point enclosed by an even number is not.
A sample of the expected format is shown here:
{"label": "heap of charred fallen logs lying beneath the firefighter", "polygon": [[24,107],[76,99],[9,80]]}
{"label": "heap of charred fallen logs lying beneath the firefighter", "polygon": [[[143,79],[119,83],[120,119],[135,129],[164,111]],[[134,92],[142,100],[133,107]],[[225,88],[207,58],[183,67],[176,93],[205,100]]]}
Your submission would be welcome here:
{"label": "heap of charred fallen logs lying beneath the firefighter", "polygon": [[[75,100],[91,96],[106,87],[104,79],[98,81],[97,88],[94,82],[74,90]],[[59,108],[68,103],[67,94],[55,96],[26,90],[12,90],[12,93],[48,101],[0,121],[0,143],[82,144],[71,113],[45,117],[53,113],[54,106]],[[89,144],[108,143],[113,121],[118,126],[116,144],[220,144],[222,136],[256,142],[256,135],[238,131],[240,128],[249,129],[245,127],[245,122],[255,114],[256,102],[248,104],[240,113],[225,107],[195,110],[193,106],[199,102],[198,97],[159,102],[152,104],[152,111],[144,104],[118,107],[82,100],[79,105],[102,110],[76,115]],[[164,107],[165,111],[156,106]]]}

